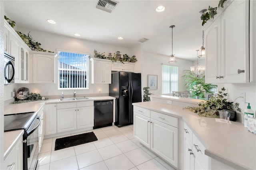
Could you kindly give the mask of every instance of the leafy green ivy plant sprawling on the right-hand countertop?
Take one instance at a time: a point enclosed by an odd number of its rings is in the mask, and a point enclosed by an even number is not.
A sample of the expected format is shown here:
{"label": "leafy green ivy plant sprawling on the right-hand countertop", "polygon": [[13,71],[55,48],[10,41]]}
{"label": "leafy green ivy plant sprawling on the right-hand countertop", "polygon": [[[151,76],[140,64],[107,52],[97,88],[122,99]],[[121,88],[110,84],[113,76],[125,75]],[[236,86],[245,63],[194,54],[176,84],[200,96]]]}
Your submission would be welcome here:
{"label": "leafy green ivy plant sprawling on the right-hand countertop", "polygon": [[226,89],[223,87],[216,97],[212,97],[208,101],[200,102],[198,107],[185,107],[185,109],[204,117],[217,117],[216,113],[224,109],[241,111],[239,103],[233,103],[226,99],[228,93],[224,93],[224,91],[226,91]]}

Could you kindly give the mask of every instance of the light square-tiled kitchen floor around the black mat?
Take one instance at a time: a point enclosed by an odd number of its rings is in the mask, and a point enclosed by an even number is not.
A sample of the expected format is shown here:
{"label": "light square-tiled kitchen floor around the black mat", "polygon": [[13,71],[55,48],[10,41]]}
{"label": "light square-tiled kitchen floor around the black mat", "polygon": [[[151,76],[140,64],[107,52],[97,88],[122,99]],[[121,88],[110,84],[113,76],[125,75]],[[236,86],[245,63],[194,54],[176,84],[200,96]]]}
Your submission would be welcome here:
{"label": "light square-tiled kitchen floor around the black mat", "polygon": [[[98,140],[54,150],[56,138],[94,132]],[[44,139],[39,170],[174,170],[133,136],[133,125],[87,130]]]}

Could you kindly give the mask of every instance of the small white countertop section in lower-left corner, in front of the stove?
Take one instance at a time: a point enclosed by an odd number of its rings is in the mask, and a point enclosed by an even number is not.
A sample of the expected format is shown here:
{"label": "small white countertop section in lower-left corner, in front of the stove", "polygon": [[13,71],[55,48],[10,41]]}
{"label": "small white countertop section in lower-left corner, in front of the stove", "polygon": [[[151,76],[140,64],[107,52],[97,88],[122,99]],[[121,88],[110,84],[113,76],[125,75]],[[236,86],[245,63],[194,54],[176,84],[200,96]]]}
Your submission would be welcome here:
{"label": "small white countertop section in lower-left corner, in front of the stove", "polygon": [[16,145],[16,142],[20,136],[24,134],[24,130],[14,130],[10,132],[4,132],[4,160],[12,151],[12,148]]}

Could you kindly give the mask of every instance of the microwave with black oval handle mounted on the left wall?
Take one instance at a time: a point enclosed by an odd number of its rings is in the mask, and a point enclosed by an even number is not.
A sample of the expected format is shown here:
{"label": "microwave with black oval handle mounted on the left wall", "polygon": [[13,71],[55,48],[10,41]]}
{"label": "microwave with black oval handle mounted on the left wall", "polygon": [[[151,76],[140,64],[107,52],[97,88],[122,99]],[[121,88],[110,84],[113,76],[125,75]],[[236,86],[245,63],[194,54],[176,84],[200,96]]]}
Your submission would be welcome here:
{"label": "microwave with black oval handle mounted on the left wall", "polygon": [[15,57],[4,52],[4,84],[14,83],[14,67]]}

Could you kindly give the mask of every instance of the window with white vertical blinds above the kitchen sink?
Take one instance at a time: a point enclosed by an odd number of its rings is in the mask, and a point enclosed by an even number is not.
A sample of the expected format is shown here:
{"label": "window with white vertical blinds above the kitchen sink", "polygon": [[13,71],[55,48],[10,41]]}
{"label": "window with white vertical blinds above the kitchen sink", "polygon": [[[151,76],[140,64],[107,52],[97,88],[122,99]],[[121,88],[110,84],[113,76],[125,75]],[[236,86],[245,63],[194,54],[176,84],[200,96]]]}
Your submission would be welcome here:
{"label": "window with white vertical blinds above the kitchen sink", "polygon": [[58,51],[58,89],[88,89],[88,53]]}

